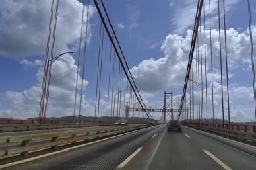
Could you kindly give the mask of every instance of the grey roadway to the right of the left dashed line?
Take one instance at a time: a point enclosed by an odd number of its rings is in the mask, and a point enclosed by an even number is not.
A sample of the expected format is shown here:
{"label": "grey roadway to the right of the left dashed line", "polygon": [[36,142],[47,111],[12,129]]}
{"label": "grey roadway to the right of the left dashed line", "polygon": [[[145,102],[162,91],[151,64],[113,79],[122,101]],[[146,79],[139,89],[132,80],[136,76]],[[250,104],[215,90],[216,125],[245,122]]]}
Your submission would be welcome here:
{"label": "grey roadway to the right of the left dashed line", "polygon": [[123,169],[256,169],[256,148],[183,126],[162,130]]}

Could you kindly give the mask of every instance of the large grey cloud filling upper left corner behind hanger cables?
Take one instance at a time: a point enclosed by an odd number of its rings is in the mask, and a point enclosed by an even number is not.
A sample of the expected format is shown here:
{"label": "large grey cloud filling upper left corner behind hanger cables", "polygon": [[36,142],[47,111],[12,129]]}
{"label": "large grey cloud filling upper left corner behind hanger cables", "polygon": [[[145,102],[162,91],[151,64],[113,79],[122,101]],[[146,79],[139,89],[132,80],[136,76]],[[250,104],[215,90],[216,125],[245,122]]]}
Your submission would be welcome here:
{"label": "large grey cloud filling upper left corner behind hanger cables", "polygon": [[[94,7],[90,7],[90,15],[94,12]],[[1,1],[0,54],[5,56],[45,54],[50,13],[51,0]],[[59,2],[55,38],[57,54],[65,52],[69,44],[77,43],[79,40],[81,15],[82,3],[79,1]]]}

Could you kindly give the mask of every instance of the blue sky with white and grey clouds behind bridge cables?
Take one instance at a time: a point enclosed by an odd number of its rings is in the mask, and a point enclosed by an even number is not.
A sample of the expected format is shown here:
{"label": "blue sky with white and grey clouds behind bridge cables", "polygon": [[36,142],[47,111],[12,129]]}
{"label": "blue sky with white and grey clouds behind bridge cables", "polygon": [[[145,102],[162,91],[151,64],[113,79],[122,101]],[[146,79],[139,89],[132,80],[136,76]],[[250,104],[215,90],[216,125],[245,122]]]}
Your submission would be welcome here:
{"label": "blue sky with white and grey clouds behind bridge cables", "polygon": [[[174,108],[179,108],[197,1],[108,0],[104,3],[129,69],[147,107],[162,108],[164,91],[173,91]],[[85,1],[84,5],[87,11],[88,2]],[[217,0],[211,0],[214,117],[222,118],[217,5]],[[82,6],[82,0],[59,1],[54,56],[63,52],[74,53],[61,56],[53,63],[47,112],[49,117],[73,115]],[[208,103],[212,103],[208,6],[208,1],[205,1],[205,28],[203,28],[202,18],[201,31],[205,30],[206,35],[207,98]],[[222,9],[222,3],[220,7]],[[225,8],[230,120],[234,122],[254,121],[247,1],[225,1]],[[0,117],[33,118],[38,116],[50,13],[51,0],[1,1]],[[253,44],[256,44],[255,13],[256,2],[251,1]],[[223,17],[222,14],[221,12],[221,17]],[[86,28],[86,18],[85,12],[84,28]],[[95,105],[100,18],[93,1],[90,1],[88,18],[84,88],[82,89],[82,114],[84,116],[94,115]],[[225,55],[223,23],[222,19],[222,56]],[[85,30],[82,34],[83,40],[84,37]],[[100,116],[106,115],[108,102],[110,42],[106,35],[104,38]],[[204,36],[202,38],[204,40]],[[82,50],[84,50],[84,41]],[[204,55],[203,60],[205,60]],[[222,60],[226,64],[224,57]],[[77,101],[79,101],[81,90],[81,69],[80,62]],[[115,69],[118,69],[117,65]],[[225,67],[223,71],[224,117],[227,119]],[[204,71],[203,77],[205,77]],[[114,80],[116,85],[117,75]],[[117,92],[117,88],[114,90]],[[205,81],[203,91],[205,95]],[[187,99],[189,101],[189,94]],[[205,103],[205,96],[203,100]],[[209,118],[211,118],[212,105],[209,104],[207,109]],[[204,112],[206,112],[205,104]],[[154,115],[160,117],[158,113]]]}

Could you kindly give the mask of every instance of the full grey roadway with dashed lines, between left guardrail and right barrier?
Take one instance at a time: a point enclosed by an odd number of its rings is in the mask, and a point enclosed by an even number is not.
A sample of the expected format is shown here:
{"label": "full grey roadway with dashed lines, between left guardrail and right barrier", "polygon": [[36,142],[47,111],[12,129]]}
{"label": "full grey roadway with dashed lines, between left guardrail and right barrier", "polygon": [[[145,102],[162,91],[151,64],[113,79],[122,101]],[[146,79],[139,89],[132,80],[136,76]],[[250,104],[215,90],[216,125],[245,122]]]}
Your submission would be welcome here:
{"label": "full grey roadway with dashed lines, between left guardrail and right barrier", "polygon": [[6,169],[256,169],[255,161],[254,146],[160,125]]}

